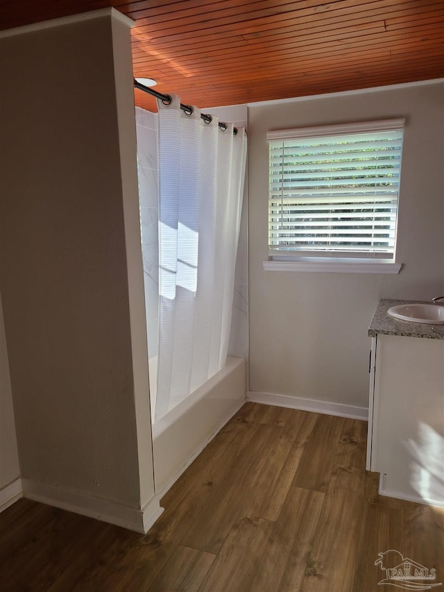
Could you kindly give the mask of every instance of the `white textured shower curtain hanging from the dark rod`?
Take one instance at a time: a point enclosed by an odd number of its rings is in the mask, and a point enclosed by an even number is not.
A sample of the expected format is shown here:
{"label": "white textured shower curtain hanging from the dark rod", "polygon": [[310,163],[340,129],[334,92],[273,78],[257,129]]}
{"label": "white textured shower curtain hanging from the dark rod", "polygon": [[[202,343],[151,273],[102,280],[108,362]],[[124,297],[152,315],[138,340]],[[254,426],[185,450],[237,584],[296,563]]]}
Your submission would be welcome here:
{"label": "white textured shower curtain hanging from the dark rod", "polygon": [[159,355],[155,418],[225,364],[246,134],[159,106]]}

